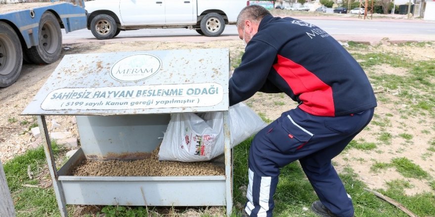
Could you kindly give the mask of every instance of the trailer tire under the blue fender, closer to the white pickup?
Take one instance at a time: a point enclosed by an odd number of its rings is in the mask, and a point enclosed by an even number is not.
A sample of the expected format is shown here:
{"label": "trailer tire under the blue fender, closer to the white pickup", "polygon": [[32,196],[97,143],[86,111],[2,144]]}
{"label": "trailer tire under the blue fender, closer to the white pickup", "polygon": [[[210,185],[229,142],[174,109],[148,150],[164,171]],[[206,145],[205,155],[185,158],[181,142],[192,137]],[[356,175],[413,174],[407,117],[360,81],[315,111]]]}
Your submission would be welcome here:
{"label": "trailer tire under the blue fender, closer to the white pickup", "polygon": [[62,47],[62,33],[56,16],[44,12],[39,21],[38,45],[27,49],[29,59],[36,64],[50,64],[59,59]]}

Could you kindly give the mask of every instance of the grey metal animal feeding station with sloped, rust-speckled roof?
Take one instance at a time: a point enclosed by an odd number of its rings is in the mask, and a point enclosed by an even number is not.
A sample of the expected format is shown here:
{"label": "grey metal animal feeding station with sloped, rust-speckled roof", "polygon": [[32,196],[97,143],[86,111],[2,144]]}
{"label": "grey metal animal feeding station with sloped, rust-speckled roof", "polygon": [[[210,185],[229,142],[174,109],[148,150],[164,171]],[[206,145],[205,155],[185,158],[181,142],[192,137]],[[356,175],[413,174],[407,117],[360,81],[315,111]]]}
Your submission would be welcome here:
{"label": "grey metal animal feeding station with sloped, rust-speckled roof", "polygon": [[[37,115],[62,217],[65,205],[226,206],[232,210],[228,49],[65,55],[22,112]],[[224,175],[72,176],[83,160],[143,159],[171,113],[223,111]],[[59,169],[46,115],[76,115],[80,149]],[[223,165],[224,164],[224,165]]]}

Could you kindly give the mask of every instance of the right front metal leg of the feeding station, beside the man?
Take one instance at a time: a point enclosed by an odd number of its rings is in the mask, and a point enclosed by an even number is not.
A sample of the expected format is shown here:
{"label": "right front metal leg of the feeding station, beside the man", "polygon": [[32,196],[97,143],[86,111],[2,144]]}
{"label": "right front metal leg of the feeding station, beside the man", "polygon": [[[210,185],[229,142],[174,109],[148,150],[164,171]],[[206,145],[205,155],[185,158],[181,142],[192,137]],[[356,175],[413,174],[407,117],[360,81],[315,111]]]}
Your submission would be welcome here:
{"label": "right front metal leg of the feeding station, beside the man", "polygon": [[226,215],[230,216],[233,208],[233,168],[228,111],[223,112],[223,135],[223,150],[225,154]]}

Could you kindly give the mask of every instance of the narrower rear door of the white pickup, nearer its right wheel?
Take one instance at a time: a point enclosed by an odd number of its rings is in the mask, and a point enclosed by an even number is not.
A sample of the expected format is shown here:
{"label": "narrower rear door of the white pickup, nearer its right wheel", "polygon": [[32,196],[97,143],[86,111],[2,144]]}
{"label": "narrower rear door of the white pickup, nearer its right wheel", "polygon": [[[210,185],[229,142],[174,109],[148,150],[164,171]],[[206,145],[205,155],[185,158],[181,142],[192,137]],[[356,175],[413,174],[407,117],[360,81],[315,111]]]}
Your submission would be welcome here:
{"label": "narrower rear door of the white pickup, nearer its right wheel", "polygon": [[196,23],[196,0],[166,0],[166,23]]}

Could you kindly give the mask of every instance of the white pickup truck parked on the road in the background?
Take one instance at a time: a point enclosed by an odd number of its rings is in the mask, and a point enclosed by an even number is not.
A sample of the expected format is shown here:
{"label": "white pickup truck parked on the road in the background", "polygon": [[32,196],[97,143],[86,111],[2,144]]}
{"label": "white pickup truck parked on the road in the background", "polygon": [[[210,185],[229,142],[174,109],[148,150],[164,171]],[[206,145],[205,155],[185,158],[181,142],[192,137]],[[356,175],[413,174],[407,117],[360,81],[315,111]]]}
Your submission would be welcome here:
{"label": "white pickup truck parked on the road in the background", "polygon": [[91,0],[85,9],[87,29],[98,39],[149,28],[187,28],[219,36],[248,4],[247,0]]}

